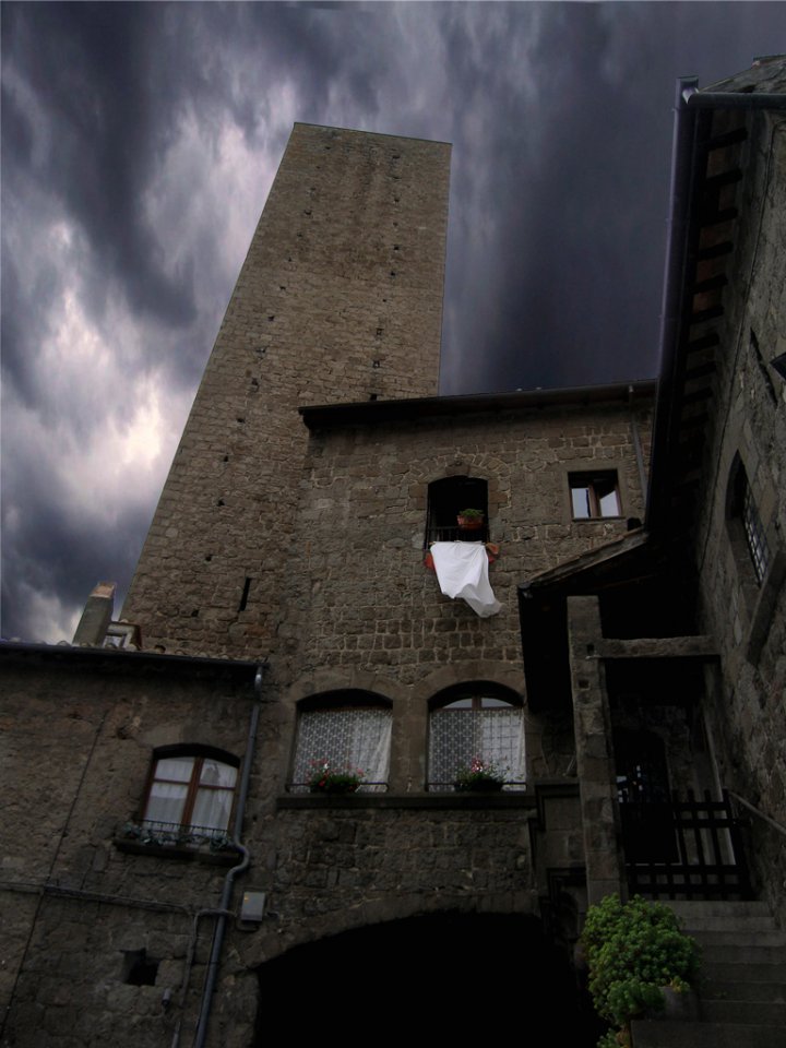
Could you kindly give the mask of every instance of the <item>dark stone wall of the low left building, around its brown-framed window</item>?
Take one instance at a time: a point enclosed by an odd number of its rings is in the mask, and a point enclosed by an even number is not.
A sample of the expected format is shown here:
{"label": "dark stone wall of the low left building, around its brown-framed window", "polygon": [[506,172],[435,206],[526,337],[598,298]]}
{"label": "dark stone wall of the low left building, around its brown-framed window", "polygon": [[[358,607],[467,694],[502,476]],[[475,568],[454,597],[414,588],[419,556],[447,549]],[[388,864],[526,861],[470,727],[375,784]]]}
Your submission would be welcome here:
{"label": "dark stone wall of the low left building, around its brown-framed window", "polygon": [[[233,859],[128,854],[118,842],[141,814],[154,747],[202,742],[242,757],[253,668],[183,671],[174,659],[57,647],[2,657],[2,1043],[170,1043],[194,914],[217,906]],[[212,920],[198,932],[191,1015]],[[157,964],[154,985],[128,981],[142,951]]]}

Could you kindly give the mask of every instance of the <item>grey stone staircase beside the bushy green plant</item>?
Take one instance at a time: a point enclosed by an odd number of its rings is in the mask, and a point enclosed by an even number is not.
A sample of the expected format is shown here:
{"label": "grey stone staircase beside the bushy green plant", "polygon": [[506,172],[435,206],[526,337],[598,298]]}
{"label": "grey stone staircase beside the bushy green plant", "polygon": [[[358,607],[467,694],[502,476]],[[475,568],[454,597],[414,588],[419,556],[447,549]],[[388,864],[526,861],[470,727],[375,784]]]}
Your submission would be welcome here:
{"label": "grey stone staircase beside the bushy green plant", "polygon": [[669,905],[702,948],[699,1015],[636,1021],[633,1048],[786,1048],[786,934],[766,904]]}

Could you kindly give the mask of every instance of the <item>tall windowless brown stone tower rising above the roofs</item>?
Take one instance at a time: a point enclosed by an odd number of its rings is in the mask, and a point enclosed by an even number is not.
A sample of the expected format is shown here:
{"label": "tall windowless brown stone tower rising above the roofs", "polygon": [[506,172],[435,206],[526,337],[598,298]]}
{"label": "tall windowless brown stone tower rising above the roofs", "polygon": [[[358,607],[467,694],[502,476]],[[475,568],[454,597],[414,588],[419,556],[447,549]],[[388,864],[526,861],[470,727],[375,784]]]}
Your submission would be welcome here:
{"label": "tall windowless brown stone tower rising above the roofs", "polygon": [[123,608],[145,647],[265,655],[306,404],[436,394],[450,145],[297,123]]}

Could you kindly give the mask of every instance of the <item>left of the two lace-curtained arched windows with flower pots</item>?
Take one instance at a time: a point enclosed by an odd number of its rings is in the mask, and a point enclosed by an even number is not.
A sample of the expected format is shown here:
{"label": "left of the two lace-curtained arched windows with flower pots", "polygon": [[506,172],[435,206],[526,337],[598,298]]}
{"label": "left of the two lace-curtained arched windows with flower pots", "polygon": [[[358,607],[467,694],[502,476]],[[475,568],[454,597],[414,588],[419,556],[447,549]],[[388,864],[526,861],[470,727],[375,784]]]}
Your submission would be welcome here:
{"label": "left of the two lace-curtained arched windows with flower pots", "polygon": [[336,691],[300,703],[291,787],[308,791],[327,771],[354,776],[358,791],[385,789],[393,712],[379,695]]}

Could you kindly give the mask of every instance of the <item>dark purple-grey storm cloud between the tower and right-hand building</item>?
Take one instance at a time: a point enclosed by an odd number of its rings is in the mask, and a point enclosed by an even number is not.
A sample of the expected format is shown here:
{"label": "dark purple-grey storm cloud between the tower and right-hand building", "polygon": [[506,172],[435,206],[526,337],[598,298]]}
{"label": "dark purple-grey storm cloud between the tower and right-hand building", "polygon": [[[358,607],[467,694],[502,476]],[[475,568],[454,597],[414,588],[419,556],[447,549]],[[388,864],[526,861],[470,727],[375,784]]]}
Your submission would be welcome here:
{"label": "dark purple-grey storm cloud between the tower and right-hand building", "polygon": [[[698,72],[706,84],[746,68],[786,27],[776,4],[563,4],[539,14],[535,95],[505,93],[503,50],[485,51],[495,71],[487,162],[464,167],[473,143],[464,129],[454,138],[452,205],[479,177],[495,213],[488,247],[471,227],[488,209],[481,194],[457,230],[454,221],[450,392],[655,373],[676,78]],[[480,72],[465,60],[461,78],[477,90]]]}

